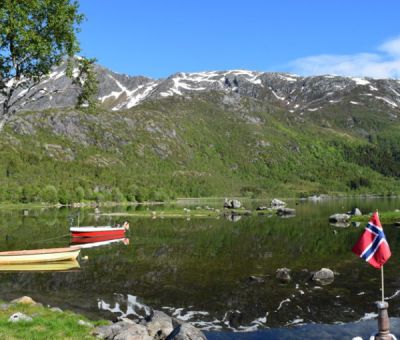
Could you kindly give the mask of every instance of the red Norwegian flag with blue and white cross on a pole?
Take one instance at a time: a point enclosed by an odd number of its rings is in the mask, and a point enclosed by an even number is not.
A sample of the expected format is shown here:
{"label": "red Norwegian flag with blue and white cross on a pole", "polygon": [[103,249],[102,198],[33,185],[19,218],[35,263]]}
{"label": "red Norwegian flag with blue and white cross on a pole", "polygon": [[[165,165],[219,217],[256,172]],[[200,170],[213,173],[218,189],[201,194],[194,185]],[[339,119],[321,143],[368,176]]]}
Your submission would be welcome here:
{"label": "red Norwegian flag with blue and white cross on a pole", "polygon": [[392,253],[386,241],[378,212],[374,212],[364,233],[354,245],[352,252],[375,268],[381,268]]}

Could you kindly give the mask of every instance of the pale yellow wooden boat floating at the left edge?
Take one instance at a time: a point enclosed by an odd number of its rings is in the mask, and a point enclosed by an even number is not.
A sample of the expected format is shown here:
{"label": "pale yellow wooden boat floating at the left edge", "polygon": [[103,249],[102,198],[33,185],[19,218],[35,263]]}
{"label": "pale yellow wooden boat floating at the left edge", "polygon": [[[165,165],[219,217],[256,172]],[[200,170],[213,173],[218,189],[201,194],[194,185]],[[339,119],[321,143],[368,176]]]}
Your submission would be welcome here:
{"label": "pale yellow wooden boat floating at the left edge", "polygon": [[80,251],[80,248],[77,247],[3,251],[0,252],[0,264],[75,260]]}

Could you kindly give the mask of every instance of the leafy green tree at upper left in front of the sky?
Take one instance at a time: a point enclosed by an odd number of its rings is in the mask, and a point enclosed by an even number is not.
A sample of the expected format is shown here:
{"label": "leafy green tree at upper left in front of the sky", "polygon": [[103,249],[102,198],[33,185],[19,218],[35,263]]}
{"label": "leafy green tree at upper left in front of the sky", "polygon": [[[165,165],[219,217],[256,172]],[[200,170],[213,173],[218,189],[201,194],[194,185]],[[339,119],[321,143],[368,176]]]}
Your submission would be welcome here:
{"label": "leafy green tree at upper left in front of the sky", "polygon": [[[48,94],[37,86],[52,67],[67,60],[67,76],[79,85],[80,105],[97,90],[94,59],[74,58],[84,20],[77,1],[2,0],[0,3],[0,131],[24,101]],[[72,72],[73,70],[77,72]],[[21,95],[23,91],[23,96]]]}

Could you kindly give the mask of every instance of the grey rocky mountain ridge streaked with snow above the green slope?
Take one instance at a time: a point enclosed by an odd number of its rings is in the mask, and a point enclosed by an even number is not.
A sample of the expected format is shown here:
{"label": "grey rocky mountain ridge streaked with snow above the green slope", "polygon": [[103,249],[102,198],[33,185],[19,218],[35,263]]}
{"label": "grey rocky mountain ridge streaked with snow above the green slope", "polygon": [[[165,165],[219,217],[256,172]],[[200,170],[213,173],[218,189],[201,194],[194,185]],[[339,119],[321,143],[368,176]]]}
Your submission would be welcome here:
{"label": "grey rocky mountain ridge streaked with snow above the green slope", "polygon": [[[209,91],[268,100],[299,113],[318,110],[320,104],[334,104],[354,90],[359,90],[360,94],[358,101],[349,102],[352,105],[366,105],[371,100],[378,100],[391,111],[397,112],[400,107],[400,80],[397,79],[334,75],[302,77],[290,73],[248,70],[178,72],[167,78],[152,79],[118,74],[100,65],[96,65],[95,70],[100,84],[98,102],[113,111],[130,109],[148,100]],[[50,94],[42,95],[40,99],[37,99],[39,95],[34,96],[32,101],[25,103],[24,109],[70,107],[78,93],[65,76],[64,65],[55,68],[32,91],[38,88],[45,88]],[[52,94],[54,89],[62,91]],[[23,91],[26,90],[17,92],[16,96],[29,96],[29,93]]]}

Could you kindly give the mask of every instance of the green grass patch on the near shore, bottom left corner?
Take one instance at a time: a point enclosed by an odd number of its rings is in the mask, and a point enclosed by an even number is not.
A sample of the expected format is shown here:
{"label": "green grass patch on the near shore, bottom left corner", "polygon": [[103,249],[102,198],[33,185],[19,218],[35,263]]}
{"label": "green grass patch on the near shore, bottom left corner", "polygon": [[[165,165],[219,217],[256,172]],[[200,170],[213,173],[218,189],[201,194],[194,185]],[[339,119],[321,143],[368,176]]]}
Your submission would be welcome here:
{"label": "green grass patch on the near shore, bottom left corner", "polygon": [[[7,304],[0,305],[7,306]],[[30,316],[32,321],[9,322],[14,313],[21,312]],[[96,339],[91,335],[92,327],[80,325],[83,320],[93,326],[106,324],[106,321],[89,321],[85,317],[69,311],[52,311],[39,304],[10,304],[8,308],[0,308],[0,338],[11,339]]]}

